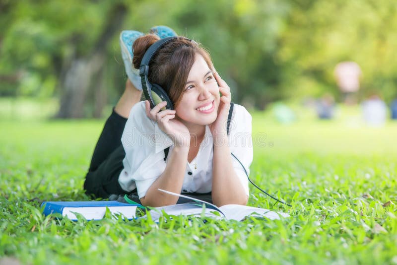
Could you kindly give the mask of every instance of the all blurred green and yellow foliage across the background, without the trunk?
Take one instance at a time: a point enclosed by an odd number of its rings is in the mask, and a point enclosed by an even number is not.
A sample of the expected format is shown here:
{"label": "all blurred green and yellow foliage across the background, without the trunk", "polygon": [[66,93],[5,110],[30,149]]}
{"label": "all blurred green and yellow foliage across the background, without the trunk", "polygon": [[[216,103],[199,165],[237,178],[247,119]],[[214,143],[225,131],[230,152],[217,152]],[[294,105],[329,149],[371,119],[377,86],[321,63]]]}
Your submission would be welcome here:
{"label": "all blurred green and yellow foliage across the background, without the trunk", "polygon": [[[2,1],[0,95],[59,95],[62,68],[90,56],[118,4],[128,9],[123,29],[165,24],[207,47],[235,102],[336,96],[333,69],[345,60],[363,70],[362,97],[397,96],[394,0]],[[125,81],[117,34],[106,53],[114,103]]]}

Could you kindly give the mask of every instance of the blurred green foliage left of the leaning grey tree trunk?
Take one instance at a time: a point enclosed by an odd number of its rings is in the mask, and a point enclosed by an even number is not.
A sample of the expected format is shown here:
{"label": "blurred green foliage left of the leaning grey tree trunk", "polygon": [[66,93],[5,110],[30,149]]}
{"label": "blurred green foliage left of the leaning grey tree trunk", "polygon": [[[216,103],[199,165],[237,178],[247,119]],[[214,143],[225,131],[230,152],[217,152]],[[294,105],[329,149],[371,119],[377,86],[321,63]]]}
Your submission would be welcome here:
{"label": "blurred green foliage left of the leaning grey tree trunk", "polygon": [[[70,57],[89,55],[103,27],[109,1],[15,1],[7,7],[1,33],[1,95],[59,94],[62,68]],[[0,79],[1,81],[1,79]]]}

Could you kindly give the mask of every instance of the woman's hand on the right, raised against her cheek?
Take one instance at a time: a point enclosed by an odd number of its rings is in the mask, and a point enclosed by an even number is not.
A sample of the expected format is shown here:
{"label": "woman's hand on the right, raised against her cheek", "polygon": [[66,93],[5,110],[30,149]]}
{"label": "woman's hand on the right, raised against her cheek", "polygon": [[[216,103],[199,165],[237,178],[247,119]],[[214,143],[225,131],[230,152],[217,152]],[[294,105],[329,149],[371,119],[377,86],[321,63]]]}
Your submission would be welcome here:
{"label": "woman's hand on the right, raised against her cheek", "polygon": [[227,116],[229,115],[231,94],[230,94],[230,87],[219,76],[218,72],[215,72],[214,76],[219,85],[219,92],[221,92],[222,94],[219,100],[218,116],[216,120],[208,126],[209,130],[212,133],[212,137],[215,140],[215,136],[224,136],[227,133],[226,124],[227,124]]}

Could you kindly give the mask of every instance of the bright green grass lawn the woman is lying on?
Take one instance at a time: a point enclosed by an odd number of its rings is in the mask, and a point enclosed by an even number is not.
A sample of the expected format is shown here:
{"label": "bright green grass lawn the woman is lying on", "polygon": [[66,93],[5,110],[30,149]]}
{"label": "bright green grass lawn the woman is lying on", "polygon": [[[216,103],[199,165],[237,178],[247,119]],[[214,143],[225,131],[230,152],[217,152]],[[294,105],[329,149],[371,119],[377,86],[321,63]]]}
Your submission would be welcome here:
{"label": "bright green grass lawn the woman is lying on", "polygon": [[397,264],[397,124],[367,128],[357,115],[341,117],[353,121],[301,117],[282,126],[269,113],[253,113],[251,177],[292,207],[252,186],[249,205],[292,217],[205,224],[183,217],[159,224],[44,217],[42,200],[88,199],[82,185],[103,121],[0,121],[0,260]]}

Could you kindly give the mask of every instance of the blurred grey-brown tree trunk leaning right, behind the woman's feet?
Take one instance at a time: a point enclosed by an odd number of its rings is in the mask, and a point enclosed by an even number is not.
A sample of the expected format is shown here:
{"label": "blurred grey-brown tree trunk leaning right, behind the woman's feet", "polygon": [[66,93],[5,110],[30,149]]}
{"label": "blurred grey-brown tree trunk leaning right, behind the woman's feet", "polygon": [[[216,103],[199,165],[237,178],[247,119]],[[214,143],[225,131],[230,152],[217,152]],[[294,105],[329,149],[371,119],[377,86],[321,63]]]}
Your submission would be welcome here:
{"label": "blurred grey-brown tree trunk leaning right, behind the woman's feet", "polygon": [[[108,23],[103,28],[102,34],[95,42],[92,52],[87,56],[72,56],[64,63],[66,69],[61,73],[61,99],[57,118],[83,118],[87,93],[91,87],[93,77],[98,73],[106,58],[106,46],[109,40],[118,32],[123,23],[127,7],[117,4],[111,8]],[[95,104],[94,104],[95,105]],[[100,104],[103,108],[105,104]],[[96,110],[96,113],[102,110]]]}

